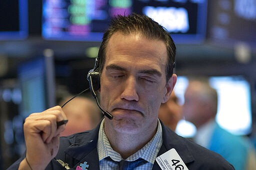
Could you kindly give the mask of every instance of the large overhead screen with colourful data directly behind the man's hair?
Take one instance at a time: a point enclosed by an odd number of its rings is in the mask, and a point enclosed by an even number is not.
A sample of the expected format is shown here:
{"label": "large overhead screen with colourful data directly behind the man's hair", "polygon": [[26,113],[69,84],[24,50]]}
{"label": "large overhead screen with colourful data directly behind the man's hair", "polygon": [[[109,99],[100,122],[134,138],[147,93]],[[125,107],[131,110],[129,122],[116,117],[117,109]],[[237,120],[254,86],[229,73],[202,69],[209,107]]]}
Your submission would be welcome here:
{"label": "large overhead screen with colourful data directly behind the man's hair", "polygon": [[206,30],[206,0],[43,0],[42,36],[51,40],[101,41],[117,14],[148,15],[176,43],[201,42]]}

